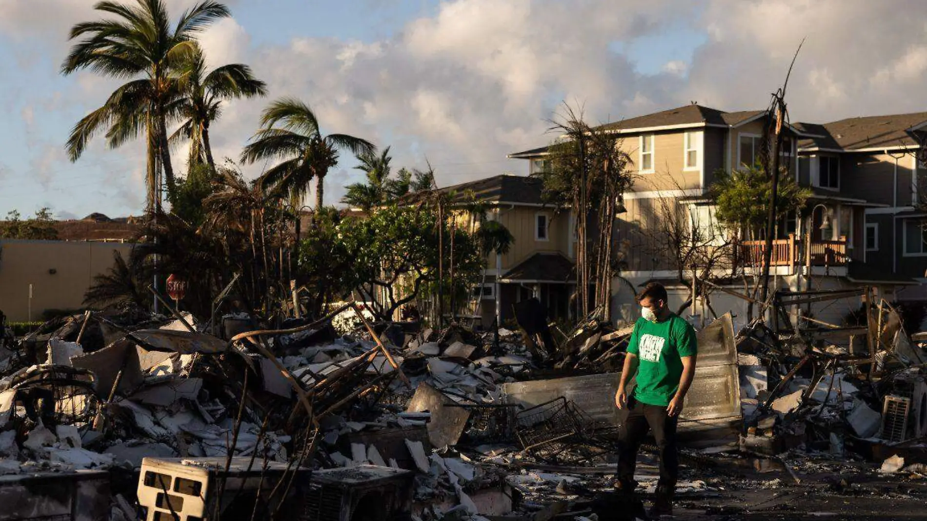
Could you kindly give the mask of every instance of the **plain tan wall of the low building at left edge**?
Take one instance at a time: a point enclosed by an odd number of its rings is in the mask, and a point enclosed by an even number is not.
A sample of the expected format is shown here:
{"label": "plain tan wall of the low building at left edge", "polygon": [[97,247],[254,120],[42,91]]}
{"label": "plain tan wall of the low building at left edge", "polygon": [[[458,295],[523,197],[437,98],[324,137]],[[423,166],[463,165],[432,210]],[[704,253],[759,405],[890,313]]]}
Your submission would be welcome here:
{"label": "plain tan wall of the low building at left edge", "polygon": [[[0,240],[0,310],[10,321],[44,310],[80,309],[94,276],[113,265],[113,251],[127,257],[133,245],[103,242]],[[56,273],[50,273],[55,270]]]}

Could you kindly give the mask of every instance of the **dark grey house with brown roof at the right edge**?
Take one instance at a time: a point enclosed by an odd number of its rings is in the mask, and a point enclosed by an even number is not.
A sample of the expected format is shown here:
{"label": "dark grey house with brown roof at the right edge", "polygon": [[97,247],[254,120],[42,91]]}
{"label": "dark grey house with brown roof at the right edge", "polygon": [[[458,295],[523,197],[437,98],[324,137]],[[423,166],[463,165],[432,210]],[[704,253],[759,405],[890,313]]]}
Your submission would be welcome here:
{"label": "dark grey house with brown roof at the right edge", "polygon": [[802,184],[837,201],[868,203],[849,230],[852,258],[876,273],[927,276],[927,212],[921,208],[927,112],[796,126],[808,134],[798,144]]}

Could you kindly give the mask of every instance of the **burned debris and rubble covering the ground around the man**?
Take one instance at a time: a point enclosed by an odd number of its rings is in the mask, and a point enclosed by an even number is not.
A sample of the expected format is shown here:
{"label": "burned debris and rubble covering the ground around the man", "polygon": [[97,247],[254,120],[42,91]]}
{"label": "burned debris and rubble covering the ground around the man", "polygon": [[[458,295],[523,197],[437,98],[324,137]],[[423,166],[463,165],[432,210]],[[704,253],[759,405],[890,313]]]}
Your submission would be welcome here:
{"label": "burned debris and rubble covering the ground around the man", "polygon": [[[721,490],[787,489],[806,475],[924,476],[927,337],[871,297],[858,326],[799,311],[845,294],[780,293],[771,321],[735,334],[726,314],[700,328],[679,423],[689,507],[708,512]],[[87,312],[5,347],[0,474],[108,474],[94,508],[116,521],[612,508],[630,327],[591,317],[566,332],[524,319],[517,331],[432,330],[373,322],[354,304],[264,328],[174,313]],[[639,474],[652,492],[655,467]],[[375,505],[361,501],[371,490]],[[230,506],[242,497],[247,508]]]}

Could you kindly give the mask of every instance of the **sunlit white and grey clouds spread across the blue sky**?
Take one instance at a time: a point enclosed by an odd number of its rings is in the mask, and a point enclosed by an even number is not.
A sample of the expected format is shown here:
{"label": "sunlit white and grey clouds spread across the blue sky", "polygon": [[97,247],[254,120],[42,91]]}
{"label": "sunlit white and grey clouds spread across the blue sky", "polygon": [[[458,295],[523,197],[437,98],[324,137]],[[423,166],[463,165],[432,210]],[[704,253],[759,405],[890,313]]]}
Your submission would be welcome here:
{"label": "sunlit white and grey clouds spread across the blue sky", "polygon": [[[392,1],[362,4],[382,8]],[[50,54],[59,60],[68,47],[65,32],[88,19],[90,5],[0,0],[0,33],[52,46]],[[182,5],[192,1],[171,0],[175,12]],[[805,37],[787,95],[794,120],[924,110],[927,27],[912,16],[920,11],[917,0],[897,0],[879,10],[868,0],[654,0],[620,6],[609,0],[451,0],[440,3],[433,16],[408,20],[400,32],[374,41],[307,34],[285,44],[255,44],[257,30],[247,19],[227,19],[204,32],[202,44],[213,66],[251,65],[268,83],[270,98],[291,95],[309,103],[325,133],[392,146],[397,167],[424,167],[427,158],[438,182],[450,184],[525,172],[524,162],[506,160],[505,154],[548,142],[545,120],[562,100],[583,105],[593,122],[690,100],[728,110],[765,108]],[[658,73],[637,72],[631,58],[615,50],[628,48],[616,43],[654,34],[674,44],[673,28],[686,23],[705,33],[705,44],[691,59],[672,57]],[[68,81],[71,90],[52,106],[24,98],[37,124],[44,120],[40,108],[85,113],[115,85],[90,74]],[[224,109],[211,133],[217,159],[237,158],[267,101],[235,101]],[[21,115],[24,123],[27,114]],[[66,134],[44,138],[59,143]],[[125,197],[125,205],[141,206],[140,153],[140,144],[113,152],[95,141],[77,167],[98,168],[106,179],[108,198],[98,204]],[[32,154],[34,172],[52,176],[70,166],[42,146]],[[110,159],[121,161],[119,167],[106,167]],[[340,197],[340,184],[360,175],[350,170],[349,158],[342,159],[326,179],[329,202]],[[183,170],[184,160],[178,149],[175,170]]]}

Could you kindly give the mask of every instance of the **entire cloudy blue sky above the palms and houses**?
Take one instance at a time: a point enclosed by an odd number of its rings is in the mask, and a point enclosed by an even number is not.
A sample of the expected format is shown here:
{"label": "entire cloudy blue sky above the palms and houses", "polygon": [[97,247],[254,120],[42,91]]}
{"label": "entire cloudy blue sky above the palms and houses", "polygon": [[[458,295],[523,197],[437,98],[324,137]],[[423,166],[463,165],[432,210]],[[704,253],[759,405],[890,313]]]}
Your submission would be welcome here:
{"label": "entire cloudy blue sky above the palms and houses", "polygon": [[[134,0],[124,0],[133,2]],[[195,4],[166,0],[173,17]],[[141,212],[144,146],[101,138],[70,162],[71,127],[118,81],[58,70],[92,0],[0,0],[0,216]],[[200,36],[210,66],[246,63],[269,95],[230,102],[210,136],[236,159],[271,100],[297,97],[324,133],[430,164],[439,185],[527,172],[506,154],[552,140],[564,103],[617,121],[697,102],[766,108],[806,39],[787,92],[792,121],[927,110],[918,0],[228,0]],[[185,170],[184,146],[173,152]],[[342,154],[325,202],[362,172]],[[250,177],[266,165],[244,169]],[[309,201],[312,198],[307,199]]]}

